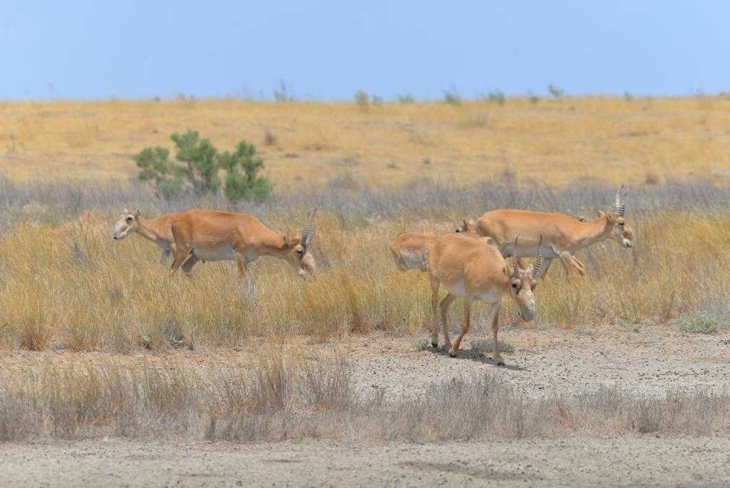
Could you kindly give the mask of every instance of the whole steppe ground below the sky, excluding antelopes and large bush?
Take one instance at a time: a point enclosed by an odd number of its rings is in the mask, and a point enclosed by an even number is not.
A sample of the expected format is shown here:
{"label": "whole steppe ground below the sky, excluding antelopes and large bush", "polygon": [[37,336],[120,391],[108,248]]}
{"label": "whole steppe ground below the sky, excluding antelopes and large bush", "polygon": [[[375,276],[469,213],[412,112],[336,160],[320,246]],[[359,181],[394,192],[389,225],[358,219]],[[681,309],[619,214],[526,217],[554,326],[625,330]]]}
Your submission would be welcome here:
{"label": "whole steppe ground below the sky, excluding antelopes and large bush", "polygon": [[[730,99],[0,114],[0,484],[58,463],[71,478],[51,485],[730,483]],[[254,142],[272,197],[138,182],[131,155],[185,129]],[[504,300],[504,367],[479,302],[456,358],[430,346],[428,278],[396,268],[395,235],[505,207],[592,219],[621,183],[634,247],[579,251],[583,277],[553,264],[534,321]],[[112,240],[125,207],[253,213],[288,235],[318,207],[318,272],[170,275],[153,243]],[[453,336],[461,306],[449,319]]]}

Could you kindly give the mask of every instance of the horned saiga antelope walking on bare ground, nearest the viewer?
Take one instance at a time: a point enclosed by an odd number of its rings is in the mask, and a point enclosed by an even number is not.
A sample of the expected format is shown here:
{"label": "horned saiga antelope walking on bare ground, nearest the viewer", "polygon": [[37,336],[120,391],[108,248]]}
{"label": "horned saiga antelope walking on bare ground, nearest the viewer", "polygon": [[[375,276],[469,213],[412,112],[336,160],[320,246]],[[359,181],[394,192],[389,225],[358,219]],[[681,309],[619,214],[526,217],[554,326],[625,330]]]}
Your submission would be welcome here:
{"label": "horned saiga antelope walking on bare ground, nearest the viewer", "polygon": [[[472,300],[482,300],[491,304],[491,329],[493,340],[492,359],[496,365],[504,365],[499,356],[497,329],[499,307],[502,297],[509,295],[518,306],[523,320],[531,321],[535,316],[535,297],[533,291],[537,284],[537,270],[542,265],[542,237],[537,245],[537,260],[530,270],[525,270],[518,254],[518,240],[515,237],[512,254],[512,271],[507,269],[507,261],[493,245],[464,237],[461,234],[447,234],[439,237],[429,253],[429,278],[431,278],[431,311],[433,313],[431,346],[438,347],[439,331],[436,307],[439,300],[439,286],[443,284],[448,294],[441,301],[441,325],[444,332],[445,347],[450,357],[456,352],[469,332],[472,314]],[[447,311],[456,297],[464,297],[464,325],[456,342],[451,345],[447,325]]]}

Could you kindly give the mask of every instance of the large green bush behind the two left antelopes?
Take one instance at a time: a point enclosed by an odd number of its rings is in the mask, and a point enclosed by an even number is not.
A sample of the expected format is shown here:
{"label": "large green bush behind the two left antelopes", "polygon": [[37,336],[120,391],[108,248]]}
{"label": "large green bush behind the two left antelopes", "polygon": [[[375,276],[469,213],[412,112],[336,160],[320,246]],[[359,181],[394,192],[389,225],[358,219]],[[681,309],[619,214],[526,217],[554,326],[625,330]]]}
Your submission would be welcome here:
{"label": "large green bush behind the two left antelopes", "polygon": [[219,153],[196,131],[176,132],[170,138],[177,148],[174,160],[169,158],[169,150],[160,147],[144,148],[132,157],[139,167],[139,180],[153,181],[161,197],[170,199],[187,190],[196,195],[215,194],[220,188],[220,169],[226,172],[223,193],[231,202],[263,199],[271,193],[269,180],[258,176],[264,161],[252,144],[242,141],[233,153]]}

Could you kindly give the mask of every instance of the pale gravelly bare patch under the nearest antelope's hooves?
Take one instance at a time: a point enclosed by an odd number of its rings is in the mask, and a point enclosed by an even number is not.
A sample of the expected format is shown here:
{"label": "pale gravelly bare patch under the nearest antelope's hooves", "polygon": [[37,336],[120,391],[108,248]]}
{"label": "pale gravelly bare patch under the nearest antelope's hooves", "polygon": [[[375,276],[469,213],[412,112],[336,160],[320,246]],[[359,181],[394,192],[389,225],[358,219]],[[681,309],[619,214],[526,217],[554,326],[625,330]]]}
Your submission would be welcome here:
{"label": "pale gravelly bare patch under the nearest antelope's hooves", "polygon": [[[506,367],[494,365],[491,351],[469,350],[471,341],[487,340],[488,333],[476,331],[466,338],[457,358],[431,346],[413,352],[413,340],[387,338],[353,344],[350,357],[358,384],[385,389],[393,397],[424,394],[444,378],[472,373],[501,375],[533,397],[548,390],[577,394],[601,385],[651,395],[677,387],[730,387],[730,331],[701,335],[669,327],[580,331],[507,327],[499,338],[509,341],[515,352],[502,354]],[[369,354],[364,354],[366,350]]]}

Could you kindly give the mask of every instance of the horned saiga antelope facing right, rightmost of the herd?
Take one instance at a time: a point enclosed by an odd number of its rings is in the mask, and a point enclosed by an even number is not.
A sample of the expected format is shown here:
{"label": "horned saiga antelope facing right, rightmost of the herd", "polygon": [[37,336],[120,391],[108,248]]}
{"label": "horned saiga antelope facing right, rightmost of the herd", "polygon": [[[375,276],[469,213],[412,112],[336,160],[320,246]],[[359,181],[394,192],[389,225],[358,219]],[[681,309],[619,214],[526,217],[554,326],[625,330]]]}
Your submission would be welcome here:
{"label": "horned saiga antelope facing right, rightmost of the herd", "polygon": [[560,259],[566,275],[573,267],[585,275],[585,265],[573,256],[576,251],[602,240],[612,239],[624,248],[634,247],[634,231],[625,224],[626,193],[629,188],[621,186],[616,192],[613,210],[599,212],[592,222],[583,222],[562,213],[532,212],[529,210],[492,210],[477,221],[477,232],[495,240],[502,256],[512,254],[512,241],[520,240],[524,256],[537,254],[537,235],[542,235],[545,260],[539,275],[548,272],[554,258]]}

